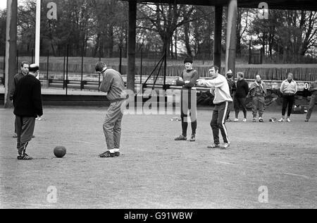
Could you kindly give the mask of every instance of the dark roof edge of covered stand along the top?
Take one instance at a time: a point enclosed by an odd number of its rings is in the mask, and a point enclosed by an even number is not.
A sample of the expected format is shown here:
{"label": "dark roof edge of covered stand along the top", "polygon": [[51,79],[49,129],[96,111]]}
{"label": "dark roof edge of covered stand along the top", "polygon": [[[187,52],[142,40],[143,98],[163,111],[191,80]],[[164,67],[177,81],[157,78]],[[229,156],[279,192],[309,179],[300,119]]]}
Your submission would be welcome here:
{"label": "dark roof edge of covered stand along the top", "polygon": [[[123,0],[137,1],[139,3],[160,3],[160,4],[186,4],[198,6],[227,6],[229,0]],[[258,8],[261,2],[266,2],[271,9],[284,10],[306,10],[317,11],[316,0],[237,0],[241,8]]]}

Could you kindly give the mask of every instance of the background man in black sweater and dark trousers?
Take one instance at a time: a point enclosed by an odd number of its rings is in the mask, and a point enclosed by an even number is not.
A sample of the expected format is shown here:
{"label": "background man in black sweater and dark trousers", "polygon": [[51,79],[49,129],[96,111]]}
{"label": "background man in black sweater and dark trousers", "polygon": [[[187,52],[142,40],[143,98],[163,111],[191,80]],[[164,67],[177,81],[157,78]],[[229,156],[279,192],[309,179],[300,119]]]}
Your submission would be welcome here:
{"label": "background man in black sweater and dark trousers", "polygon": [[247,122],[247,95],[249,94],[249,85],[244,80],[244,73],[237,73],[237,90],[235,92],[235,121],[239,121],[240,107],[242,108],[244,119]]}

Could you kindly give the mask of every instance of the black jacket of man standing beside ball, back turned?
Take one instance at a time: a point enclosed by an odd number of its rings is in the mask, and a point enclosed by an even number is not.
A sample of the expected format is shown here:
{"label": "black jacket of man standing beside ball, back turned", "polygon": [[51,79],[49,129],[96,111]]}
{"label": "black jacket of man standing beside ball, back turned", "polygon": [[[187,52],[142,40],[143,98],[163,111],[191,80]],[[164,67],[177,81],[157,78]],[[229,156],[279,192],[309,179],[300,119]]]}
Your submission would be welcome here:
{"label": "black jacket of man standing beside ball, back turned", "polygon": [[13,105],[16,116],[43,115],[41,83],[35,76],[27,75],[18,81],[13,95]]}

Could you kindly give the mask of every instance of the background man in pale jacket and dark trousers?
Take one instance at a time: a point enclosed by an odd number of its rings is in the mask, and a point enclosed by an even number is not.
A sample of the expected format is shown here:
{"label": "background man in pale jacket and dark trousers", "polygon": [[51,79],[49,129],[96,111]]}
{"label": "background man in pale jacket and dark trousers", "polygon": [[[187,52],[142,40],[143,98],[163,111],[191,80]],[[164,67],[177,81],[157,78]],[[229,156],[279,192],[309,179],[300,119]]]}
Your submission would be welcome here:
{"label": "background man in pale jacket and dark trousers", "polygon": [[282,107],[282,118],[278,122],[285,122],[286,108],[288,105],[287,111],[287,122],[291,122],[290,116],[292,114],[293,105],[295,102],[295,95],[297,93],[297,83],[293,79],[293,74],[289,73],[287,80],[282,82],[280,86],[280,92],[283,95],[283,107]]}

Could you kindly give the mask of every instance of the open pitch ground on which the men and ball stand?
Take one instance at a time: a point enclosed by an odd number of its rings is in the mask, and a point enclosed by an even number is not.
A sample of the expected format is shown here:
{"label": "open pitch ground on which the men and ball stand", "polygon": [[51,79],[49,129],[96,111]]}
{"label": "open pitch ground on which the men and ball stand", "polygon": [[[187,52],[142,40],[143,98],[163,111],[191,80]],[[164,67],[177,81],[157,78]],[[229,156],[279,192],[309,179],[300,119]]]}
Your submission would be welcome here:
{"label": "open pitch ground on which the men and ball stand", "polygon": [[[0,208],[317,208],[317,114],[310,123],[228,123],[230,150],[208,150],[211,109],[198,111],[197,142],[177,143],[173,116],[125,116],[123,155],[100,159],[106,108],[45,108],[28,153],[16,160],[11,109],[0,109]],[[249,114],[250,118],[251,114]],[[64,145],[68,155],[56,159]],[[57,189],[48,203],[47,188]],[[259,203],[259,188],[268,203]]]}

